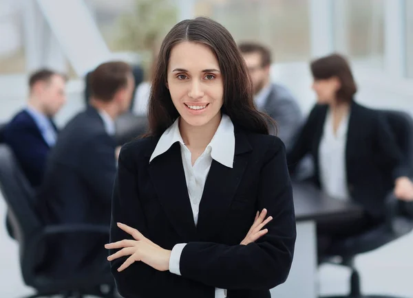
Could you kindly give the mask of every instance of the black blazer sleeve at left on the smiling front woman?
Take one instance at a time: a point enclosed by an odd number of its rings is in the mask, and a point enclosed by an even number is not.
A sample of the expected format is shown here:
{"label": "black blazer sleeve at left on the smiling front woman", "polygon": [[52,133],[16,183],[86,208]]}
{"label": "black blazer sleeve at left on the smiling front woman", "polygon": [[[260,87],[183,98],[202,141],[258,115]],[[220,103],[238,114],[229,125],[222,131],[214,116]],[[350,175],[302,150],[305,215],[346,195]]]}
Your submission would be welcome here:
{"label": "black blazer sleeve at left on the smiling front woman", "polygon": [[[132,239],[129,234],[116,226],[116,222],[123,222],[125,225],[138,229],[143,235],[147,235],[147,225],[137,190],[138,172],[133,165],[136,161],[131,157],[129,152],[131,148],[127,148],[128,145],[120,150],[112,196],[110,242]],[[109,251],[110,254],[115,252],[116,250]],[[112,275],[122,297],[158,298],[164,297],[165,293],[169,293],[169,297],[212,298],[214,295],[215,289],[211,286],[169,271],[157,271],[143,262],[135,262],[125,271],[118,272],[117,269],[126,259],[122,257],[111,262]]]}

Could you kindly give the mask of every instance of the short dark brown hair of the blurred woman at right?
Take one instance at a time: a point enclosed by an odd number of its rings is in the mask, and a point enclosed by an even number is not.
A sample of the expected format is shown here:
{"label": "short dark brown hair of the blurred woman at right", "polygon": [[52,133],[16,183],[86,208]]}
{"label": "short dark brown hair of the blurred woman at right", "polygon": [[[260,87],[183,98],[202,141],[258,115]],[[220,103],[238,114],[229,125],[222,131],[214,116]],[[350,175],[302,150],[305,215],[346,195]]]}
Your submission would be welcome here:
{"label": "short dark brown hair of the blurred woman at right", "polygon": [[357,92],[357,84],[354,82],[350,65],[344,56],[330,54],[313,60],[310,63],[311,73],[314,80],[326,80],[337,78],[341,87],[337,90],[337,100],[340,102],[351,102]]}

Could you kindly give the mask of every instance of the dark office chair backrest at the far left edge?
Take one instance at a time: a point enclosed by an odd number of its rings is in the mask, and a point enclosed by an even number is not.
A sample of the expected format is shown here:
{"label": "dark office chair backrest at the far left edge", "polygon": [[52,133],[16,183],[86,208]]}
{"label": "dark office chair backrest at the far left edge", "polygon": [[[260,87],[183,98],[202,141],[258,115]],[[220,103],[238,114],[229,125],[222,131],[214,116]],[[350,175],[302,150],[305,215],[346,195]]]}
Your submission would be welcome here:
{"label": "dark office chair backrest at the far left edge", "polygon": [[36,213],[34,190],[6,144],[0,144],[0,190],[6,200],[14,238],[24,247],[25,241],[43,225]]}

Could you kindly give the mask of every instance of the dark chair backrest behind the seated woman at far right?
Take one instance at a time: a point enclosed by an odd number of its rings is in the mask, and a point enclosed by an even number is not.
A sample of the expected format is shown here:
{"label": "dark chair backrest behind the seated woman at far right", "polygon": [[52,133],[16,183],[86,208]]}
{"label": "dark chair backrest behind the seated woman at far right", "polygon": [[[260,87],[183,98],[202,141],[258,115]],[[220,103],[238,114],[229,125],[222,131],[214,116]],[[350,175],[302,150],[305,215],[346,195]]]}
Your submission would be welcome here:
{"label": "dark chair backrest behind the seated woman at far right", "polygon": [[397,144],[405,154],[413,174],[413,119],[403,111],[384,110],[383,113],[392,128]]}

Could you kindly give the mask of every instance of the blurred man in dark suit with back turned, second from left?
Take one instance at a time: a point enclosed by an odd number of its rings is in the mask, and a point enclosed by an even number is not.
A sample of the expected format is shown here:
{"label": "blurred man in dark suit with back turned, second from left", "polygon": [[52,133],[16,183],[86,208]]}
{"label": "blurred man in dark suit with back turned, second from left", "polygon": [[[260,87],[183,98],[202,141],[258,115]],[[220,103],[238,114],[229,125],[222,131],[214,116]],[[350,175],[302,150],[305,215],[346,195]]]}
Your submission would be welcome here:
{"label": "blurred man in dark suit with back turned, second from left", "polygon": [[[89,106],[61,130],[39,192],[48,224],[92,224],[109,231],[116,174],[115,119],[129,108],[134,76],[125,62],[106,62],[90,75]],[[108,236],[72,235],[54,241],[56,277],[107,266]]]}

